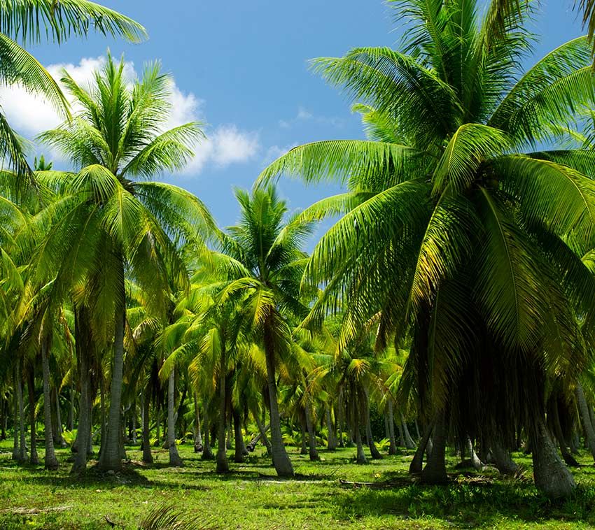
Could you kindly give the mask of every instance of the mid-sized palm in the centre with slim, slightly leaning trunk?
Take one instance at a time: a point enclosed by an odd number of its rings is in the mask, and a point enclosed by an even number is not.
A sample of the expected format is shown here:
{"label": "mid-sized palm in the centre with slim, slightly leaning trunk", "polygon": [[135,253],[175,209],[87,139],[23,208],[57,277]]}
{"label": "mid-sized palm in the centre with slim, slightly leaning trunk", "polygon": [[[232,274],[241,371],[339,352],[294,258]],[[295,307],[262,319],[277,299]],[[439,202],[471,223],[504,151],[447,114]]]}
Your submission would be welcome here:
{"label": "mid-sized palm in the centre with slim, slightly leaning trunk", "polygon": [[279,476],[292,476],[293,466],[283,445],[276,366],[292,355],[288,317],[303,317],[300,299],[304,266],[302,239],[309,222],[283,222],[286,204],[273,187],[248,194],[237,190],[239,224],[220,234],[221,251],[229,258],[227,285],[219,303],[240,303],[253,340],[265,352],[271,420],[272,461]]}

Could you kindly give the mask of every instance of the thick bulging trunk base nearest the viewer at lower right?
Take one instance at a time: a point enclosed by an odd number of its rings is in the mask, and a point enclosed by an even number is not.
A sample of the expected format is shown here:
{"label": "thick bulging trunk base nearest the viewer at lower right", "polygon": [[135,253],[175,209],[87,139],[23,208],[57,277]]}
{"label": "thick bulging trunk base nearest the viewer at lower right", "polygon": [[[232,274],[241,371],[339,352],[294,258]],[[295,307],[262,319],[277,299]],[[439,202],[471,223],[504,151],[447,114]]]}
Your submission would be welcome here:
{"label": "thick bulging trunk base nearest the viewer at lower right", "polygon": [[566,498],[576,487],[573,475],[568,471],[541,416],[535,419],[531,429],[533,478],[535,486],[550,499]]}

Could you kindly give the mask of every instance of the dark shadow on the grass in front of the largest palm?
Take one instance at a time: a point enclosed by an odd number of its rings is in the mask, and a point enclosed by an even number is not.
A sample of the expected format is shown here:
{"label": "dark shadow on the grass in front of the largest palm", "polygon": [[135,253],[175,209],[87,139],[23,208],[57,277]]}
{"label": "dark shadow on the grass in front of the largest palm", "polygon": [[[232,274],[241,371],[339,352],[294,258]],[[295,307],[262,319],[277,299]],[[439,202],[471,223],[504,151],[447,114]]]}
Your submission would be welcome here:
{"label": "dark shadow on the grass in front of the largest palm", "polygon": [[[392,482],[392,483],[391,483]],[[553,502],[523,480],[458,476],[443,486],[421,485],[402,475],[374,485],[343,484],[323,502],[339,520],[392,515],[444,520],[454,527],[497,527],[505,520],[595,524],[595,492],[580,485],[570,499]]]}

